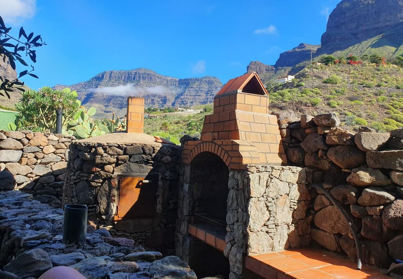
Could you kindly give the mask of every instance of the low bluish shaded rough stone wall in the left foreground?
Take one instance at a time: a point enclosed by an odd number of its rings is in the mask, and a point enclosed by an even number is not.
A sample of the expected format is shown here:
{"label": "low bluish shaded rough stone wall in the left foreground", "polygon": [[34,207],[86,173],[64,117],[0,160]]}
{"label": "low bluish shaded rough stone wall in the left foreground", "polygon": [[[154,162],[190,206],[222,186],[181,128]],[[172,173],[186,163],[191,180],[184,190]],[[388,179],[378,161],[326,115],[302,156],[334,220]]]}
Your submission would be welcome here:
{"label": "low bluish shaded rough stone wall in the left foreground", "polygon": [[38,278],[52,267],[69,266],[92,279],[167,274],[172,279],[197,279],[178,257],[145,252],[131,239],[112,238],[106,229],[87,229],[84,243],[63,244],[63,210],[21,191],[0,191],[0,219],[0,278]]}

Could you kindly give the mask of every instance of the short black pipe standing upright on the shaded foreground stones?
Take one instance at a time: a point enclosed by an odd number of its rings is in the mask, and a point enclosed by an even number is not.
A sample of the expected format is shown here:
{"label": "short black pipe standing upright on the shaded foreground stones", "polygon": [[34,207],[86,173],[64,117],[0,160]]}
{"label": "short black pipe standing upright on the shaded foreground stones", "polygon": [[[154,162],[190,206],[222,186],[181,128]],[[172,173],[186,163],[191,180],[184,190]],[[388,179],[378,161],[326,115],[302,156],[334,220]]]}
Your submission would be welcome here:
{"label": "short black pipe standing upright on the shaded foreground stones", "polygon": [[66,204],[64,206],[63,242],[85,242],[87,236],[88,207],[83,204]]}

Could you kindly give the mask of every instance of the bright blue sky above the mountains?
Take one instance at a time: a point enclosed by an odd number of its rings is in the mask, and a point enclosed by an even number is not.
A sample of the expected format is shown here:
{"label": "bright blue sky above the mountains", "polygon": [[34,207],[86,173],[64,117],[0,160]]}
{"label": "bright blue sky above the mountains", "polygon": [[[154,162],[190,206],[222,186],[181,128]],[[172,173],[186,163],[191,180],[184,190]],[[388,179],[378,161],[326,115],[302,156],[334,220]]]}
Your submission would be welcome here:
{"label": "bright blue sky above the mountains", "polygon": [[273,65],[301,42],[319,44],[338,2],[0,0],[0,15],[48,44],[37,49],[39,79],[25,79],[33,89],[138,67],[225,83],[252,60]]}

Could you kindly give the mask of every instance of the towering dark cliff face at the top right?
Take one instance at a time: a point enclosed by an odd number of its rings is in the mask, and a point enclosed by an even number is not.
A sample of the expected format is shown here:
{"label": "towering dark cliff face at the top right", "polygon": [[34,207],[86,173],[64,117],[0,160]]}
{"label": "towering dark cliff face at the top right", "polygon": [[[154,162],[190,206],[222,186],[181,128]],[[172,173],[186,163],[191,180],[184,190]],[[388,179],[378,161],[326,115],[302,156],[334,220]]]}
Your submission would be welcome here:
{"label": "towering dark cliff face at the top right", "polygon": [[329,16],[318,54],[344,50],[377,35],[401,29],[402,0],[342,0]]}

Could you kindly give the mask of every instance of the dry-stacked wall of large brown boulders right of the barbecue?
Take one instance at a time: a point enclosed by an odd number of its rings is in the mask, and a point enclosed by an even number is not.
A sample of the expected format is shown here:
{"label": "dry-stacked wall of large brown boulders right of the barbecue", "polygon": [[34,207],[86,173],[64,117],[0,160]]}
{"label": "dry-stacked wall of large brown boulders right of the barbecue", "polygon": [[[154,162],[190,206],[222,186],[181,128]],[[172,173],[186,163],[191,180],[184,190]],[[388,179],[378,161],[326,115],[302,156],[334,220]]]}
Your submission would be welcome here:
{"label": "dry-stacked wall of large brown boulders right of the barbecue", "polygon": [[[288,162],[307,170],[307,179],[330,192],[353,219],[362,260],[388,267],[403,258],[403,129],[376,133],[338,127],[334,113],[278,115]],[[308,187],[312,184],[308,184]],[[356,260],[354,240],[341,212],[322,190],[310,189],[311,236],[328,250]]]}

